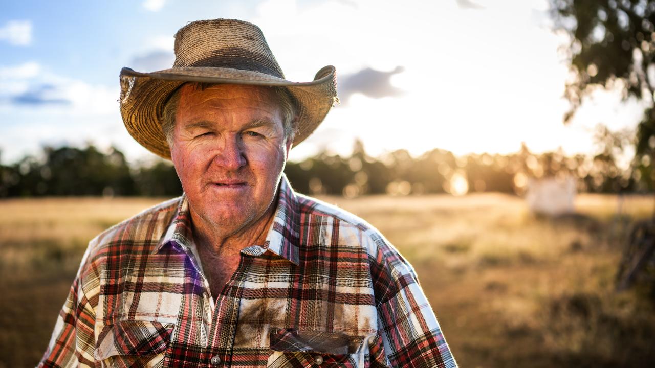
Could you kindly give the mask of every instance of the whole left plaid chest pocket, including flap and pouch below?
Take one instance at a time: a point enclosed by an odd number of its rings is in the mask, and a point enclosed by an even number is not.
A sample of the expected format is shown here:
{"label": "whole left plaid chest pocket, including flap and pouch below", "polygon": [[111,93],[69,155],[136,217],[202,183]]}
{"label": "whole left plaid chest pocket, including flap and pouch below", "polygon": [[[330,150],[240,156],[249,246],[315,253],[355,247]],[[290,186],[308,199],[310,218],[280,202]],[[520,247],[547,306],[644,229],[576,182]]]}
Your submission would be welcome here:
{"label": "whole left plaid chest pocket, including flap and pouch below", "polygon": [[174,323],[120,321],[100,332],[94,358],[102,367],[161,366]]}

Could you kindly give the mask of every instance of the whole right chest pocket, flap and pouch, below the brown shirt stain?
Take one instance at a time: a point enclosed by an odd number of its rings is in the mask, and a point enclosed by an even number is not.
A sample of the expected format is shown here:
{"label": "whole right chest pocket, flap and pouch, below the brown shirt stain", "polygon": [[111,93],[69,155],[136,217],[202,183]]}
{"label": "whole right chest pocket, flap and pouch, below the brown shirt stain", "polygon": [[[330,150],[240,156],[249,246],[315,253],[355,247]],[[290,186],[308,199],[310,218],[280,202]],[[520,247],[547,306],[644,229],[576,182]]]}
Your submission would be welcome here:
{"label": "whole right chest pocket, flap and pouch, below the brown shirt stain", "polygon": [[325,331],[272,328],[267,367],[363,368],[363,336]]}

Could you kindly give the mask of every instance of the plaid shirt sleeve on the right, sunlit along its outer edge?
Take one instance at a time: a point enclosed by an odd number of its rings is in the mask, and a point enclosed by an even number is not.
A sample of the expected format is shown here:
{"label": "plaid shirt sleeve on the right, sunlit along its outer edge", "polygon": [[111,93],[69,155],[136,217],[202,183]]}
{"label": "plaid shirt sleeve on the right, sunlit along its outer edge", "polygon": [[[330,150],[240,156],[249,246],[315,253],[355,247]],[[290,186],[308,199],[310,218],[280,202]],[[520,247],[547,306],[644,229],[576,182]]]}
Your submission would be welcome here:
{"label": "plaid shirt sleeve on the right, sunlit along its outer edge", "polygon": [[376,243],[371,277],[379,337],[371,346],[371,366],[457,367],[413,268],[384,238]]}

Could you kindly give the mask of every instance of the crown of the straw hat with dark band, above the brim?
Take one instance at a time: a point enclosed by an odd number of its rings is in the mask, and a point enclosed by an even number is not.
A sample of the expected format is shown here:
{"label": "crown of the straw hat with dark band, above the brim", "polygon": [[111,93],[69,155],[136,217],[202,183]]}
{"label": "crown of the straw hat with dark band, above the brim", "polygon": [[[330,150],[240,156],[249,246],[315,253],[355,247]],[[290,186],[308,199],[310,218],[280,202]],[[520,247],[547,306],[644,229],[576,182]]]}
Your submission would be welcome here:
{"label": "crown of the straw hat with dark band, above the brim", "polygon": [[234,19],[198,20],[175,35],[173,67],[227,67],[284,79],[264,35],[252,23]]}

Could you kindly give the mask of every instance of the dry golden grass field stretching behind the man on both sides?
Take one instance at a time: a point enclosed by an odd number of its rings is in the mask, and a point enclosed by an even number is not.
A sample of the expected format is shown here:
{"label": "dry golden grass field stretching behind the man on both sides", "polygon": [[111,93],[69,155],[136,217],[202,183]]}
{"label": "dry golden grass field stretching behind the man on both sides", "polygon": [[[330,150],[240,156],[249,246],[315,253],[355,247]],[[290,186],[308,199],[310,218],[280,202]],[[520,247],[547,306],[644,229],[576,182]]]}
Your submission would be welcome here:
{"label": "dry golden grass field stretching behind the man on both sides", "polygon": [[[614,291],[626,229],[652,197],[580,195],[578,213],[531,215],[520,198],[323,198],[364,217],[409,259],[461,367],[652,367],[653,300]],[[86,242],[159,202],[0,201],[0,367],[43,354]]]}

